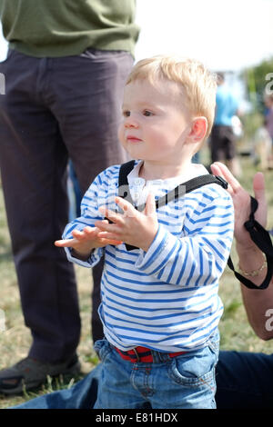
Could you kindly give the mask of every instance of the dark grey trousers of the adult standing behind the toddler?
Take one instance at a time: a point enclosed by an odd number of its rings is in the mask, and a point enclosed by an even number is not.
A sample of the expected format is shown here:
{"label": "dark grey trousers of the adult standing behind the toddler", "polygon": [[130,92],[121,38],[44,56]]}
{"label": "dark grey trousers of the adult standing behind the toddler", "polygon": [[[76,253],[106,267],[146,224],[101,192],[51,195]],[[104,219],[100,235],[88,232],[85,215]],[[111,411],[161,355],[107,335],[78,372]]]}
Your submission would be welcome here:
{"label": "dark grey trousers of the adult standing behind the toddler", "polygon": [[[126,52],[87,49],[62,58],[35,58],[10,50],[0,64],[0,168],[29,355],[46,362],[69,358],[80,337],[76,277],[56,248],[67,223],[67,160],[83,193],[96,174],[127,160],[117,141],[126,76]],[[93,338],[102,263],[93,271]],[[91,288],[91,277],[90,277]]]}

